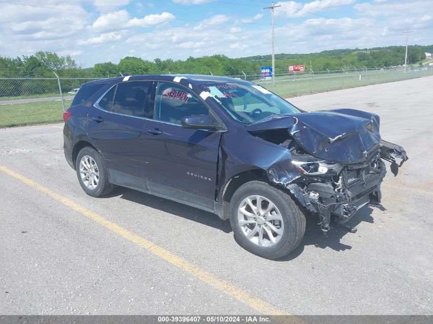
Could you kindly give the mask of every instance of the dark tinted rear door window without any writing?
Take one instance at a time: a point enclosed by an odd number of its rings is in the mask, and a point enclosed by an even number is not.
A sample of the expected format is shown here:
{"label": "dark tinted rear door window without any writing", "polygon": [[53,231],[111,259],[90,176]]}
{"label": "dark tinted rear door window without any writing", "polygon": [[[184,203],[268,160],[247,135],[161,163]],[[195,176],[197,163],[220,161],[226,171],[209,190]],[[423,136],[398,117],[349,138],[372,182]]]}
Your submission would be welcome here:
{"label": "dark tinted rear door window without any writing", "polygon": [[145,102],[150,83],[150,81],[130,81],[117,84],[112,111],[124,115],[148,117],[145,116]]}

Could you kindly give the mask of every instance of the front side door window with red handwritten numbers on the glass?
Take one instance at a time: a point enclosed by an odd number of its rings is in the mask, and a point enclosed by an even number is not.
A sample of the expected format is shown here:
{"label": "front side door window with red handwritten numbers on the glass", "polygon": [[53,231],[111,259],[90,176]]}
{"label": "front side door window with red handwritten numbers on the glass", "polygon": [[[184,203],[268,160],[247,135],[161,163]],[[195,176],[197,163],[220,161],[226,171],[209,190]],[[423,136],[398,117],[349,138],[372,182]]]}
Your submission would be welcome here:
{"label": "front side door window with red handwritten numbers on the glass", "polygon": [[154,119],[179,124],[182,117],[209,115],[208,107],[188,89],[168,82],[158,82]]}

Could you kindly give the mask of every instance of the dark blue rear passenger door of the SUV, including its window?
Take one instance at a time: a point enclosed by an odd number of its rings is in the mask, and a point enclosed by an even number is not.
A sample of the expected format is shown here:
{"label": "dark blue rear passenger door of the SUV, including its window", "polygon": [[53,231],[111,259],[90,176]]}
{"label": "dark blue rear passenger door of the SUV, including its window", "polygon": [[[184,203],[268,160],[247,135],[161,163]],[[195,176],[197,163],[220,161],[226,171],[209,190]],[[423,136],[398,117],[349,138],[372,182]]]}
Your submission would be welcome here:
{"label": "dark blue rear passenger door of the SUV, including its window", "polygon": [[118,83],[90,110],[87,134],[104,155],[116,184],[145,188],[143,127],[151,84],[142,80]]}

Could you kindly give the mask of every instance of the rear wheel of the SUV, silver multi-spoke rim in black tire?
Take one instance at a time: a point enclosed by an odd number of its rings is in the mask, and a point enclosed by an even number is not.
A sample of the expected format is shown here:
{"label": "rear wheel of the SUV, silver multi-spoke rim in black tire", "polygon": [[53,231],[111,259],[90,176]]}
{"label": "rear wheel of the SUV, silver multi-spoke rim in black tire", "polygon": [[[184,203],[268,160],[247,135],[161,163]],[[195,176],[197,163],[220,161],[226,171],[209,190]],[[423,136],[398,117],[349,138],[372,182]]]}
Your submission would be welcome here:
{"label": "rear wheel of the SUV, silver multi-spoke rim in black tire", "polygon": [[102,197],[113,190],[108,169],[102,156],[92,147],[83,147],[75,162],[78,182],[87,195]]}

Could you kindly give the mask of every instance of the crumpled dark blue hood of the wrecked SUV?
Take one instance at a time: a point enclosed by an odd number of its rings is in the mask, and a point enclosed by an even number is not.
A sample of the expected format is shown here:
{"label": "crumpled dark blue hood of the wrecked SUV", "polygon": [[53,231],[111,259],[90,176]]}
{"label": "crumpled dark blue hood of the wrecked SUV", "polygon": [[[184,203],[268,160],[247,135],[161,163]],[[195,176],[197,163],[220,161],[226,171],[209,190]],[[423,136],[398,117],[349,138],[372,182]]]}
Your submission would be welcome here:
{"label": "crumpled dark blue hood of the wrecked SUV", "polygon": [[245,128],[249,132],[287,128],[305,152],[343,164],[363,163],[379,148],[379,116],[354,109],[272,115]]}

